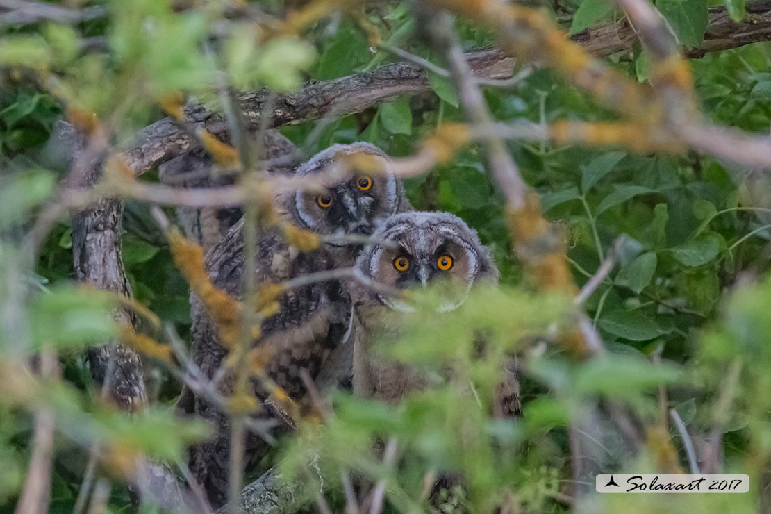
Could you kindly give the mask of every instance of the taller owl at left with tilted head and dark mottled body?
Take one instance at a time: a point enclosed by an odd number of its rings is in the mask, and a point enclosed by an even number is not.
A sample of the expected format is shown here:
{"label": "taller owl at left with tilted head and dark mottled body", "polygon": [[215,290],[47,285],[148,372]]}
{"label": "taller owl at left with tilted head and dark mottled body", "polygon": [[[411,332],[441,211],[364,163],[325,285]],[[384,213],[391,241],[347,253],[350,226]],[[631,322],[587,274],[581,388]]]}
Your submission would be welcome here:
{"label": "taller owl at left with tilted head and dark mottled body", "polygon": [[[323,173],[341,158],[367,153],[388,160],[380,149],[368,143],[335,145],[301,165],[297,176]],[[369,235],[387,217],[409,209],[400,180],[389,173],[367,174],[350,170],[342,180],[326,183],[322,191],[298,190],[278,197],[277,210],[284,220],[305,230],[333,236]],[[310,273],[351,267],[360,247],[343,240],[331,240],[314,250],[300,252],[291,247],[278,227],[258,233],[254,270],[258,284],[288,281]],[[207,271],[216,287],[235,297],[244,293],[244,223],[237,223],[207,254]],[[227,350],[217,339],[217,328],[194,299],[194,362],[212,377],[220,368]],[[302,404],[306,394],[302,374],[311,379],[325,371],[332,381],[346,366],[350,368],[352,343],[344,344],[352,327],[351,303],[341,281],[322,281],[292,289],[278,299],[279,311],[261,323],[261,338],[272,357],[266,366],[270,378],[288,395]],[[348,371],[349,372],[349,371]],[[224,382],[223,393],[231,385]],[[254,383],[258,398],[264,391]],[[188,395],[189,397],[189,395]],[[207,491],[212,506],[224,503],[227,494],[229,429],[227,418],[203,398],[189,401],[187,412],[196,412],[217,424],[217,437],[190,451],[190,469]],[[184,403],[181,401],[180,403]],[[190,405],[192,404],[192,405]],[[258,418],[280,418],[269,405],[263,405]],[[266,446],[257,435],[247,440],[247,459],[258,461]]]}

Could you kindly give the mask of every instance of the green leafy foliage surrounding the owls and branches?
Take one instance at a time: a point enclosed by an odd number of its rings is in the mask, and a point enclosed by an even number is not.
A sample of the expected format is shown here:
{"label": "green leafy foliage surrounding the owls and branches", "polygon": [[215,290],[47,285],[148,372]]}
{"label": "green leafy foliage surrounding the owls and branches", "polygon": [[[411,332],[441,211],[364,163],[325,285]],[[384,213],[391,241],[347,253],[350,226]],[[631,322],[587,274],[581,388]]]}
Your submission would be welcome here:
{"label": "green leafy foliage surrounding the owls and branches", "polygon": [[[113,317],[117,305],[112,294],[72,283],[68,220],[62,217],[50,230],[34,263],[25,261],[22,239],[54,198],[66,167],[49,140],[65,106],[96,113],[122,143],[160,116],[157,105],[170,93],[185,92],[221,109],[220,73],[237,89],[285,91],[305,79],[336,79],[397,60],[373,46],[366,30],[373,27],[389,45],[444,66],[416,31],[420,20],[407,2],[377,5],[364,24],[358,13],[325,17],[299,36],[279,35],[266,44],[255,36],[248,17],[231,16],[217,2],[182,3],[123,0],[99,3],[107,11],[96,19],[0,25],[0,362],[26,362],[41,349],[54,348],[63,378],[49,380],[0,365],[3,511],[19,499],[39,409],[51,410],[56,418],[52,511],[72,510],[93,445],[113,456],[109,510],[119,512],[130,508],[121,479],[127,458],[143,454],[180,463],[186,446],[207,434],[199,423],[173,415],[170,405],[180,385],[150,360],[147,375],[156,376],[159,385],[145,412],[127,415],[100,399],[83,350],[119,337]],[[283,16],[295,2],[285,3],[255,5]],[[561,9],[554,14],[566,9],[573,15],[571,32],[613,18],[605,0],[560,4],[554,4]],[[549,9],[554,5],[544,3]],[[702,43],[708,2],[658,0],[656,6],[682,45]],[[743,1],[727,0],[726,7],[734,19],[744,15]],[[466,49],[492,43],[488,32],[463,20],[458,29]],[[610,58],[640,80],[648,76],[646,59],[640,49]],[[768,43],[709,54],[690,66],[707,116],[767,132]],[[464,119],[450,79],[430,72],[429,85],[433,92],[427,95],[399,97],[363,113],[281,131],[311,152],[366,140],[389,155],[409,156],[437,126]],[[504,121],[612,119],[603,106],[545,69],[516,86],[485,88],[484,96],[493,116]],[[490,512],[509,501],[507,495],[521,512],[564,512],[565,496],[573,492],[565,485],[572,476],[568,428],[584,422],[600,400],[618,402],[648,425],[665,426],[667,414],[658,404],[665,391],[664,407],[675,408],[689,432],[721,429],[722,470],[749,473],[751,494],[729,499],[641,495],[635,501],[589,496],[581,509],[754,512],[756,485],[771,457],[771,404],[763,394],[771,390],[768,179],[736,180],[732,164],[695,154],[639,155],[621,148],[521,142],[509,143],[508,149],[540,194],[547,218],[564,229],[577,284],[585,284],[611,252],[618,262],[581,306],[607,345],[607,358],[576,362],[557,349],[555,327],[571,326],[577,307],[571,299],[528,291],[510,251],[500,191],[480,149],[472,146],[428,175],[407,180],[408,196],[416,208],[456,213],[478,230],[493,249],[503,287],[477,291],[453,316],[420,316],[384,350],[421,366],[436,387],[399,405],[338,391],[325,425],[302,426],[298,437],[277,452],[284,469],[308,479],[308,493],[318,491],[313,481],[319,479],[330,491],[342,490],[341,470],[371,482],[386,479],[389,509],[396,512],[428,508],[424,478],[430,473],[462,474],[461,497],[446,502],[460,502],[472,512]],[[125,229],[123,264],[136,301],[186,338],[187,285],[146,205],[127,204]],[[483,358],[475,344],[478,334],[487,343]],[[494,379],[510,351],[520,352],[524,361],[521,420],[489,415]],[[460,371],[453,380],[446,380],[448,367]],[[668,430],[685,465],[680,435]],[[652,452],[631,458],[631,448],[608,426],[601,425],[593,436],[600,446],[600,455],[593,457],[601,469],[654,469]],[[373,443],[390,439],[398,445],[399,459],[389,464]],[[335,494],[330,502],[342,510],[343,499]],[[453,506],[445,507],[452,512]]]}

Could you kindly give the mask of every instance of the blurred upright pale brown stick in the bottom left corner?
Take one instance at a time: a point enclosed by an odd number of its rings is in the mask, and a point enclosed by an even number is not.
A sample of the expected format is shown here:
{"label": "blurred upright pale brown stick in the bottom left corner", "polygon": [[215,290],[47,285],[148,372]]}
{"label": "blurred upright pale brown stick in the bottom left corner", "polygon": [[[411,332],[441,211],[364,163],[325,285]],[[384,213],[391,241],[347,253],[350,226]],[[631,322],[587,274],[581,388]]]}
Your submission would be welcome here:
{"label": "blurred upright pale brown stick in the bottom left corner", "polygon": [[[59,376],[59,358],[52,348],[40,353],[40,375]],[[35,414],[35,433],[32,436],[32,457],[21,499],[15,514],[45,514],[51,499],[51,466],[53,456],[54,415],[49,408]]]}

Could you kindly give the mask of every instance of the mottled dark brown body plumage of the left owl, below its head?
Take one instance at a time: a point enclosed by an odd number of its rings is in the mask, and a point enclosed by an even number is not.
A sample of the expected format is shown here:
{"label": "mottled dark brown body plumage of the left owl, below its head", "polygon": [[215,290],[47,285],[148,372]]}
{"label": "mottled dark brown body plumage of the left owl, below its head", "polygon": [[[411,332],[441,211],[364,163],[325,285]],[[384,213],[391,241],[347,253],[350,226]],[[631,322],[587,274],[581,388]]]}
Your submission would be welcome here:
{"label": "mottled dark brown body plumage of the left owl, below its head", "polygon": [[[244,264],[246,260],[243,222],[237,223],[207,254],[206,265],[211,280],[234,297],[244,294]],[[278,283],[292,277],[328,270],[334,262],[326,250],[318,248],[301,253],[285,243],[278,229],[261,231],[254,263],[258,284]],[[217,337],[217,327],[196,298],[194,308],[194,362],[208,377],[220,368],[227,350]],[[339,281],[325,281],[292,289],[278,298],[278,312],[261,323],[262,336],[255,344],[269,348],[270,358],[264,371],[291,399],[302,405],[306,385],[302,370],[315,378],[328,355],[342,343],[351,321],[348,293]],[[222,384],[227,395],[231,381]],[[265,400],[267,391],[260,381],[254,381],[254,392]],[[184,395],[183,395],[184,396]],[[227,416],[204,398],[196,398],[194,412],[212,420],[217,435],[210,441],[190,449],[190,470],[207,492],[212,506],[227,499],[227,470],[230,451],[230,428]],[[278,408],[264,403],[255,417],[274,420],[281,425],[275,433],[287,426]],[[255,464],[269,446],[257,435],[247,438],[247,462]]]}

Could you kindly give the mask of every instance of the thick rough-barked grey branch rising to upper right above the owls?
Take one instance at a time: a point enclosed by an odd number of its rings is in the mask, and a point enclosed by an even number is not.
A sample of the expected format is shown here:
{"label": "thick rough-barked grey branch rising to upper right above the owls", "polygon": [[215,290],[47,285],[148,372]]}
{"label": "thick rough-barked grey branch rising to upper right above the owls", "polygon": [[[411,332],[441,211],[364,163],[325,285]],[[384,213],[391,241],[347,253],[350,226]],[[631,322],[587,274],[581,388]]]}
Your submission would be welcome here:
{"label": "thick rough-barked grey branch rising to upper right above the owls", "polygon": [[[707,52],[771,39],[771,0],[751,2],[746,10],[745,19],[734,22],[725,7],[710,8],[704,42],[699,48],[685,49],[685,55],[702,57]],[[636,37],[624,18],[579,32],[572,39],[588,52],[602,57],[630,50]],[[501,52],[472,52],[466,54],[466,59],[476,77],[507,79],[512,75],[514,59]],[[270,125],[275,128],[320,119],[330,113],[357,113],[399,95],[414,96],[430,89],[425,70],[409,62],[396,62],[368,73],[308,82],[298,91],[276,96]],[[245,119],[252,129],[258,126],[267,97],[265,90],[244,92],[238,96]],[[214,136],[227,136],[224,119],[204,106],[187,106],[185,116],[190,123],[207,129]],[[194,146],[184,129],[172,119],[164,118],[142,129],[136,136],[136,143],[124,155],[134,172],[140,175]]]}

